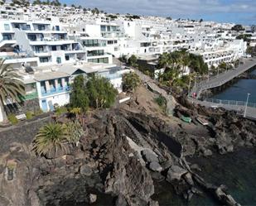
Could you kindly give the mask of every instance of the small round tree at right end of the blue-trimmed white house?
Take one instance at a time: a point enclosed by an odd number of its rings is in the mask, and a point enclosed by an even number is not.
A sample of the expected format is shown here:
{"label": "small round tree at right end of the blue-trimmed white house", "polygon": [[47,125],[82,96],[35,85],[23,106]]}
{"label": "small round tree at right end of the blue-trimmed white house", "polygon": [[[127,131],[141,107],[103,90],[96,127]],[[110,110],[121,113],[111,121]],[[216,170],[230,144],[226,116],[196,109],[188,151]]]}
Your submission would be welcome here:
{"label": "small round tree at right end of the blue-trimmed white house", "polygon": [[138,74],[134,72],[123,74],[123,90],[124,91],[133,91],[140,84],[140,79]]}

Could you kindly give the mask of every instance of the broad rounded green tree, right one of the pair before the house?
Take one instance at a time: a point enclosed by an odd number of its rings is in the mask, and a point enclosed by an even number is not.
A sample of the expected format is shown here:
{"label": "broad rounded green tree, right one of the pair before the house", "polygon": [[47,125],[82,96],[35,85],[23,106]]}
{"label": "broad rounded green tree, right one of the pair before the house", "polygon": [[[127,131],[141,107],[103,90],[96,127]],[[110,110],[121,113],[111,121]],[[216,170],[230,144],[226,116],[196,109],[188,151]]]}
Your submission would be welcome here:
{"label": "broad rounded green tree, right one of the pair before the house", "polygon": [[109,108],[114,104],[118,91],[109,79],[93,75],[86,84],[89,106],[92,108]]}

